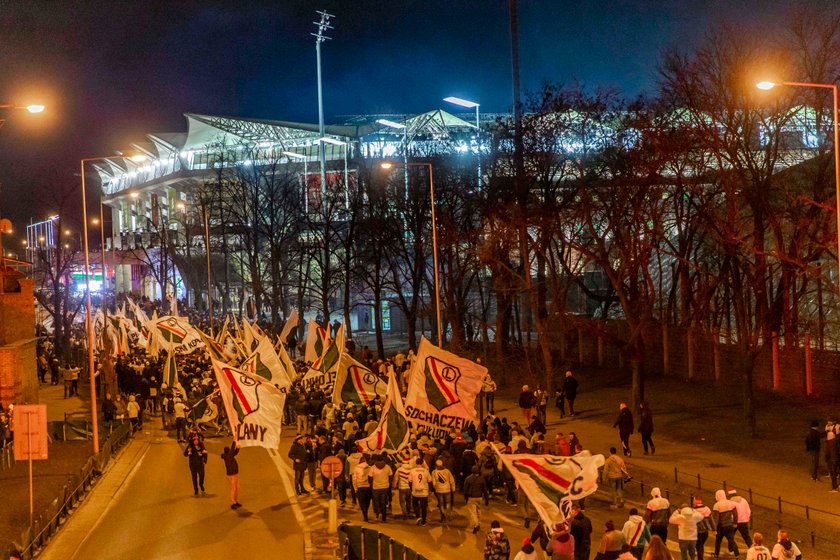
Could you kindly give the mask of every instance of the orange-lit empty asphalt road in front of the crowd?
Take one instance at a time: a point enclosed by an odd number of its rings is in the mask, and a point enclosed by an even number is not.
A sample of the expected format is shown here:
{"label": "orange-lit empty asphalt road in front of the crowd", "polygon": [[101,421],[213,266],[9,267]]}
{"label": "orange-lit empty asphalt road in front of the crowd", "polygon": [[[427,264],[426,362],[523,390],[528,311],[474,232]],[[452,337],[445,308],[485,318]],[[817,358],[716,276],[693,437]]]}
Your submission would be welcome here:
{"label": "orange-lit empty asphalt road in front of the crowd", "polygon": [[[157,424],[155,418],[152,422]],[[114,494],[104,515],[73,550],[51,543],[53,559],[256,558],[283,551],[303,558],[303,534],[279,470],[279,457],[262,448],[239,454],[243,507],[230,509],[224,463],[230,440],[207,439],[205,495],[194,496],[183,445],[152,431],[147,450]],[[274,459],[278,459],[275,462]],[[87,503],[82,506],[84,509]],[[75,517],[75,516],[74,516]],[[72,524],[74,520],[69,521]],[[51,550],[52,549],[52,550]]]}

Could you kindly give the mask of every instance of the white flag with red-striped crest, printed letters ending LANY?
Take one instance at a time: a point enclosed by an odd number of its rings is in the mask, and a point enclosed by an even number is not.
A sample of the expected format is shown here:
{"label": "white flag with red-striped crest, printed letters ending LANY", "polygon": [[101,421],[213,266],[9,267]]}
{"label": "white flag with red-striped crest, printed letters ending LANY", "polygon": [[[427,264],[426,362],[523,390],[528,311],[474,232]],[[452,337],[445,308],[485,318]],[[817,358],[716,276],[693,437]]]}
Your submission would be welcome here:
{"label": "white flag with red-striped crest, printed letters ending LANY", "polygon": [[286,395],[246,371],[213,360],[233,437],[240,447],[277,449]]}

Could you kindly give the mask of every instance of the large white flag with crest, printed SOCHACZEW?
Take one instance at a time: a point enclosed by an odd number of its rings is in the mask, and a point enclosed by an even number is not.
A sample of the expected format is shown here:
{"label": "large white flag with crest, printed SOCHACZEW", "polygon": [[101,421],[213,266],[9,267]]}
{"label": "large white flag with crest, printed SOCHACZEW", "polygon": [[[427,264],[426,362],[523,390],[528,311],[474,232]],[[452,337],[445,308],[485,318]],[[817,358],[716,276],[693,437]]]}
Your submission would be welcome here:
{"label": "large white flag with crest, printed SOCHACZEW", "polygon": [[408,376],[405,410],[431,438],[444,438],[475,421],[475,397],[487,368],[438,348],[425,337]]}

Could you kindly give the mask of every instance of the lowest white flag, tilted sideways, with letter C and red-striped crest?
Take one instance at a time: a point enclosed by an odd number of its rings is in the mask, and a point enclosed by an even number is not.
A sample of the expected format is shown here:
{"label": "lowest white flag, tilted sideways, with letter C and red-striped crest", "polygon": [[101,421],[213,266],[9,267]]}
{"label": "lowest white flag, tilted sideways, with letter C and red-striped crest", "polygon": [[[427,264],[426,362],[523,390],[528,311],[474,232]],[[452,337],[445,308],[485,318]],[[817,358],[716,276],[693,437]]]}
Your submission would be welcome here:
{"label": "lowest white flag, tilted sideways, with letter C and red-striped crest", "polygon": [[[498,453],[495,446],[491,446]],[[546,527],[565,521],[561,503],[580,500],[598,489],[603,455],[581,451],[572,457],[556,455],[499,455],[508,472],[531,500]]]}

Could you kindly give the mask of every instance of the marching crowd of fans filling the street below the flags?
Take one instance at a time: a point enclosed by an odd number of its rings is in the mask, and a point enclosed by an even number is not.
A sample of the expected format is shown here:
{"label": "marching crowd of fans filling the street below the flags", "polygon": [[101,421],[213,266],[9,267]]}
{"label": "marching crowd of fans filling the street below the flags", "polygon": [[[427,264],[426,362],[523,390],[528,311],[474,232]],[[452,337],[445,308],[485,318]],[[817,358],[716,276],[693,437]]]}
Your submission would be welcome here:
{"label": "marching crowd of fans filling the street below the flags", "polygon": [[[155,304],[144,302],[144,305],[154,308]],[[190,313],[191,322],[203,324],[204,317],[194,311]],[[351,353],[355,350],[352,341],[348,340],[347,346]],[[295,341],[291,341],[289,354],[294,356],[295,350]],[[384,381],[395,377],[405,394],[407,375],[414,361],[413,352],[399,352],[387,360],[375,360],[370,349],[363,347],[359,359]],[[178,441],[186,443],[184,456],[188,459],[193,490],[197,495],[204,492],[204,465],[208,460],[200,429],[202,410],[212,403],[216,412],[215,416],[208,417],[208,423],[215,427],[217,434],[226,430],[225,410],[209,358],[203,352],[178,357],[178,390],[160,381],[164,376],[164,362],[165,354],[155,358],[143,350],[119,357],[115,364],[118,391],[113,397],[106,395],[102,403],[103,419],[106,422],[128,420],[139,428],[144,417],[160,414],[162,427],[174,429]],[[66,371],[74,368],[69,363],[63,367],[56,364],[48,349],[39,355],[39,364],[44,372],[62,368],[64,378],[72,381],[72,374],[66,374]],[[298,360],[295,367],[299,373],[304,373],[308,364]],[[682,560],[703,560],[706,542],[712,534],[714,557],[720,555],[723,541],[726,541],[726,550],[738,558],[740,549],[736,535],[746,546],[748,560],[798,560],[801,557],[796,544],[784,531],[779,531],[772,551],[765,548],[761,534],[750,534],[749,504],[734,489],[719,490],[712,507],[706,506],[700,496],[695,496],[692,504],[674,508],[659,489],[654,488],[644,511],[630,509],[623,524],[608,521],[600,540],[594,542],[592,523],[585,515],[585,500],[573,503],[565,523],[546,527],[513,476],[502,466],[499,455],[572,456],[584,449],[575,432],[549,434],[546,428],[546,409],[551,397],[561,417],[566,416],[567,408],[568,415],[575,416],[578,381],[574,374],[566,372],[557,386],[557,392],[551,396],[540,386],[534,390],[523,386],[517,400],[522,414],[520,422],[496,415],[497,387],[488,376],[480,397],[488,413],[480,422],[469,424],[463,430],[452,430],[439,438],[431,437],[422,427],[412,428],[406,449],[397,454],[371,454],[363,453],[359,442],[378,426],[383,405],[381,397],[367,404],[336,406],[327,392],[296,382],[288,391],[284,411],[284,424],[294,426],[297,431],[288,453],[294,470],[295,491],[299,496],[310,493],[335,495],[341,506],[355,505],[365,522],[386,523],[396,518],[421,527],[436,522],[450,526],[454,522],[456,503],[463,504],[467,528],[474,534],[481,531],[486,522],[484,510],[492,503],[500,504],[504,500],[518,509],[524,526],[530,529],[533,525],[533,529],[529,538],[516,547],[518,550],[512,550],[501,523],[493,520],[485,535],[484,558],[487,560],[512,556],[514,560],[590,560],[593,552],[597,560],[671,558],[665,546],[671,525],[677,527]],[[72,382],[68,387],[71,394],[77,391]],[[640,412],[638,431],[645,454],[652,454],[655,453],[651,437],[653,417],[646,402]],[[11,437],[10,430],[4,426],[8,426],[8,419],[0,411],[0,437]],[[614,427],[619,431],[623,455],[630,457],[629,439],[636,427],[625,404],[620,406]],[[819,454],[820,441],[826,436],[818,426],[815,426],[815,432],[819,437],[815,443],[817,436],[809,435],[808,451],[813,453],[816,446]],[[836,431],[832,427],[826,433],[830,434],[826,439],[835,453],[836,465],[835,437],[831,436],[840,434],[840,426]],[[238,451],[234,442],[225,447],[222,454],[233,509],[241,507]],[[323,476],[318,468],[331,456],[337,457],[341,464],[341,472],[335,480]],[[610,449],[601,476],[612,496],[611,508],[623,508],[623,485],[631,477],[616,448]],[[836,488],[836,474],[832,485]]]}

